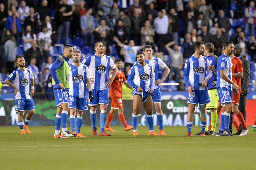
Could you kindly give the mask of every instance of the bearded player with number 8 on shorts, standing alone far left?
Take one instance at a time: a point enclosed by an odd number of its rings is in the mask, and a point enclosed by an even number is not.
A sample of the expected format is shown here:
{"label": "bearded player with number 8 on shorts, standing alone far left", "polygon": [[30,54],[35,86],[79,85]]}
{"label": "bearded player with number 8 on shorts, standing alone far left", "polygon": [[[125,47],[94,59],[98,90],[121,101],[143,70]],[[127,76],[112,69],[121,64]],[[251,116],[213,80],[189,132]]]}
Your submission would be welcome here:
{"label": "bearded player with number 8 on shorts, standing alone far left", "polygon": [[[18,125],[20,127],[20,134],[30,133],[28,123],[35,113],[34,96],[34,76],[30,69],[25,68],[25,59],[23,56],[16,57],[16,63],[19,66],[14,70],[5,80],[5,83],[14,89],[15,93],[15,111],[18,111]],[[11,83],[13,81],[14,85]],[[31,84],[31,89],[30,89]],[[23,119],[23,112],[28,110],[25,121]]]}

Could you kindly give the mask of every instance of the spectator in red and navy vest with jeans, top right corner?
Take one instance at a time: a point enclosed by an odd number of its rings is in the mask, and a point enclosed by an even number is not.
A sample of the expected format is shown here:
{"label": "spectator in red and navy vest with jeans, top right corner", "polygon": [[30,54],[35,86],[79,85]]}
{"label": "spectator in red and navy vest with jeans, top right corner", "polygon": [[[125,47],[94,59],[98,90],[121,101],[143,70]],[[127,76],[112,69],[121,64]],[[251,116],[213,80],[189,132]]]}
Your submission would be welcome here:
{"label": "spectator in red and navy vest with jeans, top right corner", "polygon": [[245,8],[244,11],[244,22],[245,22],[245,29],[244,33],[247,36],[248,35],[248,30],[251,30],[251,36],[254,34],[254,27],[256,24],[256,8],[255,8],[255,2],[250,1],[250,6]]}

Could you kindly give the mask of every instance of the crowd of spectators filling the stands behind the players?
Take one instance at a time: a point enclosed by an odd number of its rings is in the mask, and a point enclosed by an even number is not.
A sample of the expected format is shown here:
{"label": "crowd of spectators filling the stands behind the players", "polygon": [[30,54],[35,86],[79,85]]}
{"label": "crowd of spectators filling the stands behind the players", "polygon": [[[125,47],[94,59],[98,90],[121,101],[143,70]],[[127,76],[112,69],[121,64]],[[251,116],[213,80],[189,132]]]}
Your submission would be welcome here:
{"label": "crowd of spectators filling the stands behind the players", "polygon": [[49,69],[65,44],[85,57],[101,41],[106,55],[124,61],[126,73],[136,53],[150,44],[154,56],[170,67],[166,82],[178,82],[178,90],[185,90],[183,63],[196,40],[213,43],[217,56],[225,41],[233,41],[243,46],[243,56],[256,61],[255,24],[251,0],[3,0],[0,72],[10,74],[17,68],[16,55],[22,54],[37,91],[48,92]]}

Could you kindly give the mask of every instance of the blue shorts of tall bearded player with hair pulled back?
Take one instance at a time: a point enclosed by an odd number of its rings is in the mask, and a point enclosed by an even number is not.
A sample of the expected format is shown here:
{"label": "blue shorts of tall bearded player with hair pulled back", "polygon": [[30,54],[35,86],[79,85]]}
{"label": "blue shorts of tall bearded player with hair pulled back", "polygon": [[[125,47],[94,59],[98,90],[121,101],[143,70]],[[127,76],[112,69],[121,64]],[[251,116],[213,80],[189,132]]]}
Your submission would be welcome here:
{"label": "blue shorts of tall bearded player with hair pulled back", "polygon": [[95,106],[97,104],[109,104],[109,89],[95,90],[92,89],[93,100],[89,102],[89,106]]}

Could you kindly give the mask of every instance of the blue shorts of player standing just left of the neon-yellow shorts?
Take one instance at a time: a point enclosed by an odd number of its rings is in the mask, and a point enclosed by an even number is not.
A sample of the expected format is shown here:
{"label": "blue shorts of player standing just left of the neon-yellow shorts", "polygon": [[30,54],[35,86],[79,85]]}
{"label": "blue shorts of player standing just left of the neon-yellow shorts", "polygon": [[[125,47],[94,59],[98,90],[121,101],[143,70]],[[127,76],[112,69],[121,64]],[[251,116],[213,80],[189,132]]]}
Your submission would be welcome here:
{"label": "blue shorts of player standing just left of the neon-yellow shorts", "polygon": [[208,104],[211,102],[208,90],[192,90],[193,95],[188,93],[188,104]]}

